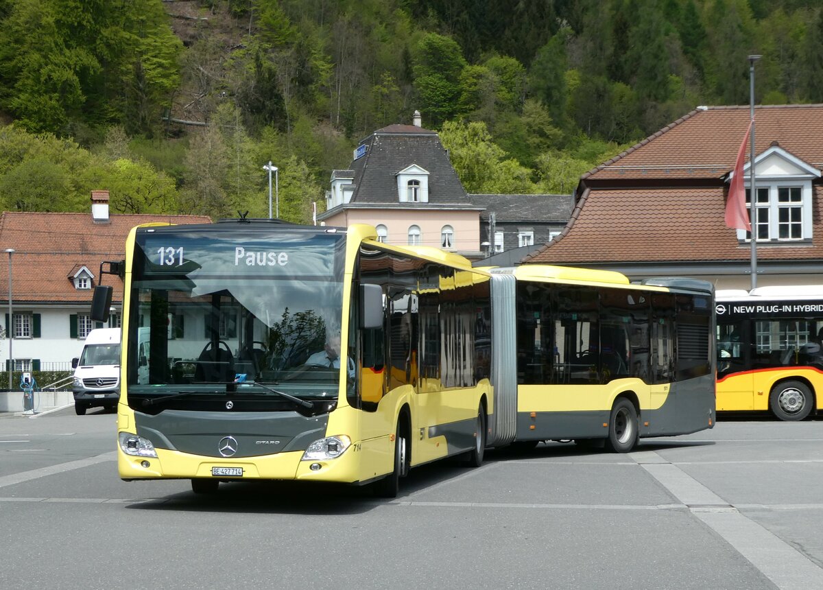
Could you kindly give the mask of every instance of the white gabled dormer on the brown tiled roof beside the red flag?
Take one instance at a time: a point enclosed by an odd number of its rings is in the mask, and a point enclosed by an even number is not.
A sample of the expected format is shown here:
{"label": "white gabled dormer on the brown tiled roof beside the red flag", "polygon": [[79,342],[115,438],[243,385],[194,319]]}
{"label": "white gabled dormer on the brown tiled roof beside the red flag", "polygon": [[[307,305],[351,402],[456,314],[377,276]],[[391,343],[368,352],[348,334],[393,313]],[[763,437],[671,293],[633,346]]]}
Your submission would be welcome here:
{"label": "white gabled dormer on the brown tiled roof beside the red flag", "polygon": [[[746,177],[747,173],[748,165],[744,171]],[[758,242],[782,244],[811,240],[811,181],[820,176],[820,170],[780,146],[772,146],[755,158]],[[751,180],[748,178],[746,185],[746,208],[751,211]],[[751,240],[751,234],[737,230],[737,239]]]}

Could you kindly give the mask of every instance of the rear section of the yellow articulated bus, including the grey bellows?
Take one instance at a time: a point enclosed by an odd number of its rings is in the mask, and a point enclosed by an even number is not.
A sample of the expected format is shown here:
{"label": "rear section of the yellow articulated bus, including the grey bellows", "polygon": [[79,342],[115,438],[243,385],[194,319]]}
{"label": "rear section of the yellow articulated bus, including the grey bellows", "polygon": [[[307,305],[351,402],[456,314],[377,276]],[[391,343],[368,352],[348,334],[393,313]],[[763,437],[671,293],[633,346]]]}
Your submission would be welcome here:
{"label": "rear section of the yellow articulated bus, including the grey bellows", "polygon": [[495,305],[495,282],[493,367],[511,368],[508,385],[493,379],[495,439],[625,453],[639,438],[714,426],[711,284],[537,265],[491,273],[513,301]]}

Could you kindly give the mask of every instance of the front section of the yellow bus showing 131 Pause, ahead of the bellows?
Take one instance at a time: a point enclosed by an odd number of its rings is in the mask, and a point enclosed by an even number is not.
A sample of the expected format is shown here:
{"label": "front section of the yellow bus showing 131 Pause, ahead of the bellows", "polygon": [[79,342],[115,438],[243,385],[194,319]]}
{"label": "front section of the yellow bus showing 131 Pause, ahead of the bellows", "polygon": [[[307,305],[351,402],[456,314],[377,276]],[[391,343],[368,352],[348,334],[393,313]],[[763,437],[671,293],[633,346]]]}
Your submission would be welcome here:
{"label": "front section of the yellow bus showing 131 Pause, ahead of the bellows", "polygon": [[[374,227],[269,220],[134,228],[123,276],[123,480],[374,483],[480,465],[490,276]],[[111,289],[95,292],[105,317]],[[341,346],[342,343],[342,346]]]}

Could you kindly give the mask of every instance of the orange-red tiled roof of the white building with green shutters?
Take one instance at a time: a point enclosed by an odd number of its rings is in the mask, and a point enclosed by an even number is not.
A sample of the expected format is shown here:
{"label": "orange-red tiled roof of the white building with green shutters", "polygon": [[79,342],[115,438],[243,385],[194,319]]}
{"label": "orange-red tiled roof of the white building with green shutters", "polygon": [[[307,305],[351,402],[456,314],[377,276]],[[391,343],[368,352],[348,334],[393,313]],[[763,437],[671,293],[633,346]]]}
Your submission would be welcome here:
{"label": "orange-red tiled roof of the white building with green shutters", "polygon": [[[95,223],[89,213],[32,213],[5,211],[0,217],[0,256],[12,248],[12,301],[14,304],[64,302],[91,304],[91,291],[77,290],[68,276],[82,266],[100,284],[100,262],[125,256],[128,231],[142,223],[211,223],[206,216],[112,215],[109,223]],[[7,268],[0,258],[0,269]],[[123,297],[123,283],[106,275],[114,286],[114,300]],[[0,270],[0,301],[8,301],[8,273]]]}

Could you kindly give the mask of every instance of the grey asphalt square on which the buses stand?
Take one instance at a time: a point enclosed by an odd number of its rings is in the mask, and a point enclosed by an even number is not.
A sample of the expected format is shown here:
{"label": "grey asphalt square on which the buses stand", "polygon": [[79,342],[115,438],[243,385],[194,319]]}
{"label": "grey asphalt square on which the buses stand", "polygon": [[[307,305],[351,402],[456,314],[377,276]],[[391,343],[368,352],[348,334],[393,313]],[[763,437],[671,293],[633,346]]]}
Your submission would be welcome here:
{"label": "grey asphalt square on which the buses stand", "polygon": [[823,588],[823,420],[351,486],[123,482],[115,416],[0,417],[0,588]]}

